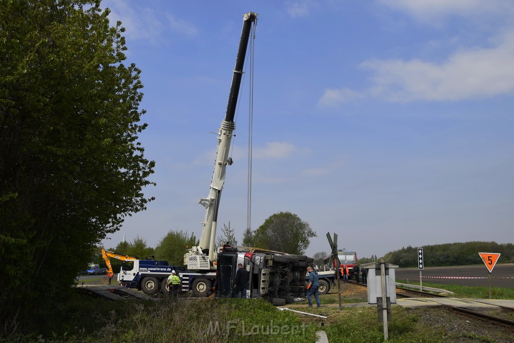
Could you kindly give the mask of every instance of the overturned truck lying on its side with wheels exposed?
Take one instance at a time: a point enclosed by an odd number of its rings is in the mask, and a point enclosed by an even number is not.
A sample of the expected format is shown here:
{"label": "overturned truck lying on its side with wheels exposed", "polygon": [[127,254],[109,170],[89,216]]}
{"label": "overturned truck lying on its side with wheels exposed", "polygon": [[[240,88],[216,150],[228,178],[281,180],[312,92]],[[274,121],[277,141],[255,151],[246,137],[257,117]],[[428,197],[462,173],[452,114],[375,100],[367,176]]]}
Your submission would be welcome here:
{"label": "overturned truck lying on its side with wheels exposed", "polygon": [[232,297],[237,264],[250,275],[247,298],[262,297],[273,305],[291,303],[305,295],[305,273],[313,259],[278,251],[223,246],[217,255],[216,297]]}

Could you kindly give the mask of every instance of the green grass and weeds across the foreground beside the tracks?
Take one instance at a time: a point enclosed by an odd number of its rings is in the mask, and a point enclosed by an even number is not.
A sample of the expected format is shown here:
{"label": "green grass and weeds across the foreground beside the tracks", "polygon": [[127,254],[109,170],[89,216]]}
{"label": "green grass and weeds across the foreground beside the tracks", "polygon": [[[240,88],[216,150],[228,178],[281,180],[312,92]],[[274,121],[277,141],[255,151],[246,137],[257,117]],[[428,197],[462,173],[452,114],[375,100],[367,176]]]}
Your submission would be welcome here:
{"label": "green grass and weeds across the foreground beside the tracks", "polygon": [[[485,289],[457,286],[451,291],[455,296],[479,298],[487,294],[487,287],[482,288]],[[511,293],[504,295],[512,296]],[[67,301],[41,309],[23,328],[16,320],[4,323],[0,334],[3,341],[9,342],[314,342],[316,331],[324,330],[331,342],[383,341],[376,308],[354,305],[367,301],[364,288],[342,284],[345,305],[341,311],[338,298],[336,292],[321,296],[320,309],[307,308],[305,300],[288,305],[293,310],[326,316],[325,319],[278,311],[255,299],[163,297],[158,301],[107,301],[74,292]],[[514,339],[508,330],[474,323],[442,309],[393,306],[389,341],[507,342]]]}

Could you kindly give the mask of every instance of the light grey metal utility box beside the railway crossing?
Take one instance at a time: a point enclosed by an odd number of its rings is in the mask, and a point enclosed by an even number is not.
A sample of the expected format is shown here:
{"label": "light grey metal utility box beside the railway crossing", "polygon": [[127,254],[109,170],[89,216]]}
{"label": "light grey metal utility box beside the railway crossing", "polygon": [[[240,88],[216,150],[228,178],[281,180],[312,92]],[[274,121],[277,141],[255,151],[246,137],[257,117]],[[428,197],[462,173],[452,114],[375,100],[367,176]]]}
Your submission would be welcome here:
{"label": "light grey metal utility box beside the railway crossing", "polygon": [[398,268],[395,264],[383,262],[371,262],[362,264],[360,268],[366,268],[368,272],[368,303],[376,304],[378,298],[382,298],[382,277],[381,264],[384,266],[384,274],[386,276],[385,298],[389,298],[390,303],[396,303],[396,277],[394,268]]}

